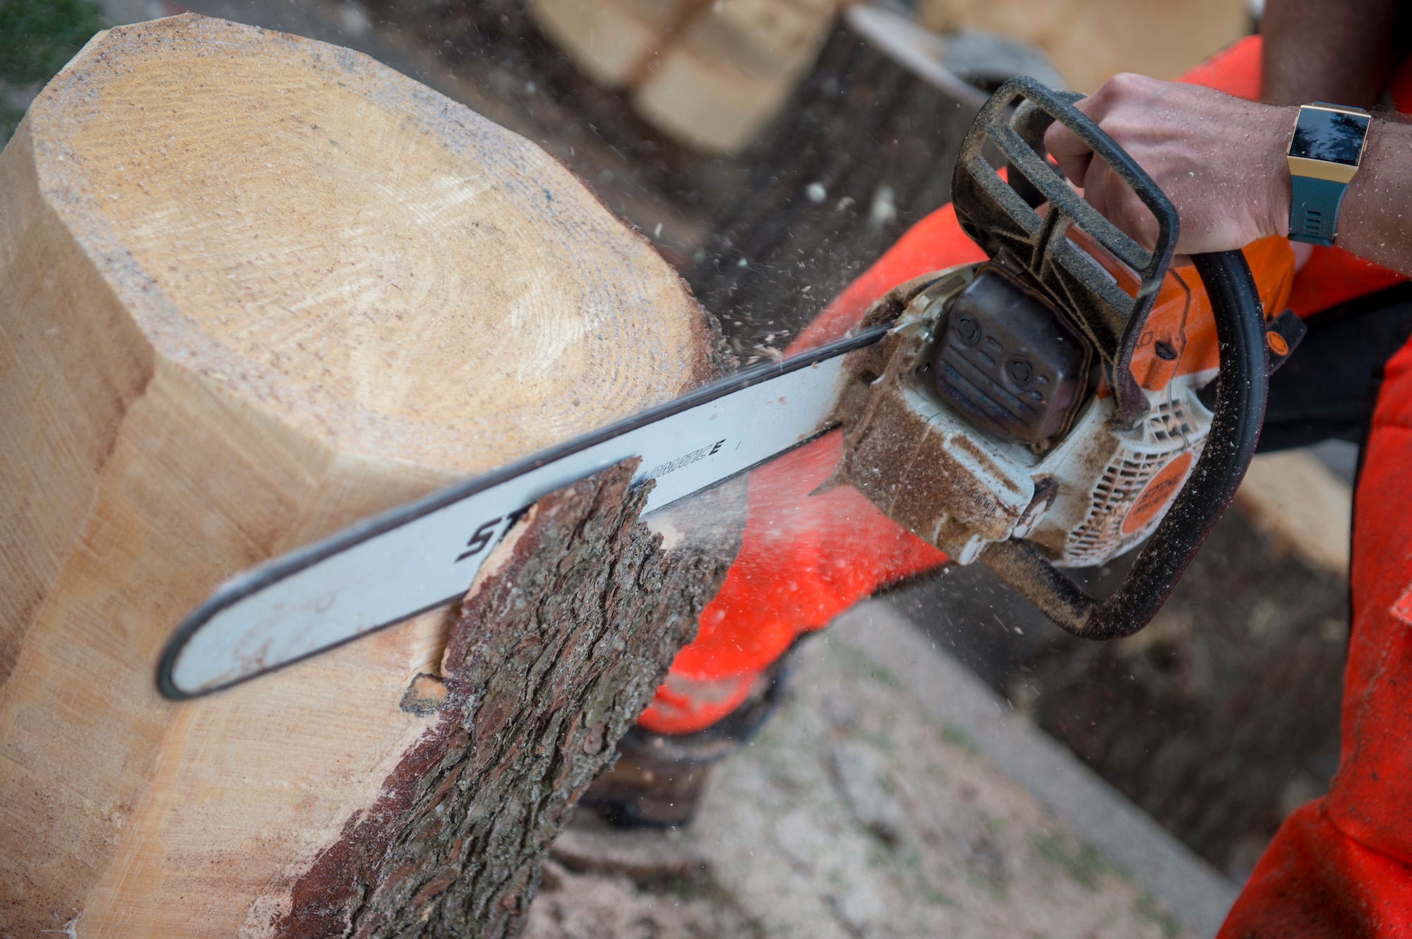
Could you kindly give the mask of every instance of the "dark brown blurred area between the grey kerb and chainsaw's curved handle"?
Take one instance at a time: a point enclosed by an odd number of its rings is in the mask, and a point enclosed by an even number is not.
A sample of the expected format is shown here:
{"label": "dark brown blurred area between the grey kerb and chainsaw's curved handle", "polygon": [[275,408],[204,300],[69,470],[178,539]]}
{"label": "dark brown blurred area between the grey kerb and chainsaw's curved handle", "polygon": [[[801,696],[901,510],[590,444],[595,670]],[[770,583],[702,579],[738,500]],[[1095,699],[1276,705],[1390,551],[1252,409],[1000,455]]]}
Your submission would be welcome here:
{"label": "dark brown blurred area between the grey kerb and chainsaw's curved handle", "polygon": [[[1090,572],[1090,589],[1123,572],[1121,558]],[[1216,526],[1152,625],[1115,643],[1062,633],[980,565],[890,599],[1237,881],[1337,767],[1344,579],[1241,512]]]}

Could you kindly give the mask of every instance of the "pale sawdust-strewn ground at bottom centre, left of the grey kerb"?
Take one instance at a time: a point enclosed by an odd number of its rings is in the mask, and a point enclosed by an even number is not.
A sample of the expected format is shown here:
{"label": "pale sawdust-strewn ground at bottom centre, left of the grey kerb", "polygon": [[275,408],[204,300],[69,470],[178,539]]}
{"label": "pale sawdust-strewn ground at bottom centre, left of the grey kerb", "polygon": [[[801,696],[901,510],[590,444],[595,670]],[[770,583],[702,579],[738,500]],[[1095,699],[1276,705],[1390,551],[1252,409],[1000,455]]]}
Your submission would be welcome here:
{"label": "pale sawdust-strewn ground at bottom centre, left of the grey kerb", "polygon": [[819,639],[761,736],[714,770],[689,826],[616,832],[580,809],[525,935],[1195,933],[898,675]]}

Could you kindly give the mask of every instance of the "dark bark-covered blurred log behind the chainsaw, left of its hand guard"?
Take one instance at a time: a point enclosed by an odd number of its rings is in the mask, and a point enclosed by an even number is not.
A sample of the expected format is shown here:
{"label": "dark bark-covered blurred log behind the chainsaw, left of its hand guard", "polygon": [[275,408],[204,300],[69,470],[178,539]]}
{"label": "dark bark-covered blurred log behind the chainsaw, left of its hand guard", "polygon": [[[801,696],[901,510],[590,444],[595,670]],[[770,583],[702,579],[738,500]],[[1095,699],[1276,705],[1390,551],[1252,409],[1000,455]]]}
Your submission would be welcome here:
{"label": "dark bark-covered blurred log behind the chainsaw, left of its hand guard", "polygon": [[744,361],[778,355],[839,290],[950,200],[957,148],[986,96],[921,25],[851,7],[688,275]]}

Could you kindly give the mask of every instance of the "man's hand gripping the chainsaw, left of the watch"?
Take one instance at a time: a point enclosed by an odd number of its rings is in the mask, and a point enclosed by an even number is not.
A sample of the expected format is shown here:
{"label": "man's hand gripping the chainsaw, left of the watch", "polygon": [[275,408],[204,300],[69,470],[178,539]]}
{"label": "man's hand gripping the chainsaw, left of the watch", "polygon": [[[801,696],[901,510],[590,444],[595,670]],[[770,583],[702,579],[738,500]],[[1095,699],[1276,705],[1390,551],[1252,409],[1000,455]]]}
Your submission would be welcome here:
{"label": "man's hand gripping the chainsaw, left of the watch", "polygon": [[[1285,151],[1296,109],[1142,75],[1115,75],[1075,107],[1131,154],[1176,206],[1179,252],[1241,248],[1288,234]],[[1094,209],[1141,244],[1155,244],[1156,219],[1073,131],[1051,125],[1045,147]]]}

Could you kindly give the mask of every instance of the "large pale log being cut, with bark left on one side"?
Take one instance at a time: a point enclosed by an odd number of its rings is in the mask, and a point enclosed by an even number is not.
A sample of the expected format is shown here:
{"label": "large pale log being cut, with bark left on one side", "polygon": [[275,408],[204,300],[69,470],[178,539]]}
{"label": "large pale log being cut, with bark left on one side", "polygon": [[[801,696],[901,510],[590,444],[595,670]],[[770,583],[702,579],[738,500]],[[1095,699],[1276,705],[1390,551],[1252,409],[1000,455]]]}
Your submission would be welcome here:
{"label": "large pale log being cut, with bark left on one side", "polygon": [[99,34],[0,155],[0,933],[511,935],[729,561],[617,467],[463,606],[186,704],[220,581],[722,354],[538,147],[371,59]]}

